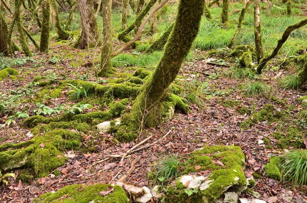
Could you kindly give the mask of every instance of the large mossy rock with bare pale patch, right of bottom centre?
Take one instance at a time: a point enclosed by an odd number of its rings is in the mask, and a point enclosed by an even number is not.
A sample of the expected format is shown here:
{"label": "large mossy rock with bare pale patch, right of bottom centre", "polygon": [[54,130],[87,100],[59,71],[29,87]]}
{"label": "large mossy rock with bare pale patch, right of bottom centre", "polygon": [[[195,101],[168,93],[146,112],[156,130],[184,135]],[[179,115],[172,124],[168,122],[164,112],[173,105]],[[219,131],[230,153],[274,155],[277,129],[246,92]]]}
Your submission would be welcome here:
{"label": "large mossy rock with bare pale patch, right of bottom centre", "polygon": [[[217,165],[216,161],[223,163]],[[199,187],[193,190],[186,187],[180,179],[177,188],[173,185],[167,187],[166,202],[213,202],[225,191],[234,190],[242,192],[247,189],[247,181],[243,172],[245,156],[240,147],[234,146],[205,146],[203,149],[194,151],[191,158],[184,163],[184,173],[198,172],[201,170],[212,171],[209,178]],[[199,170],[195,166],[200,166]],[[206,179],[206,178],[204,178]],[[191,195],[188,196],[188,192]]]}

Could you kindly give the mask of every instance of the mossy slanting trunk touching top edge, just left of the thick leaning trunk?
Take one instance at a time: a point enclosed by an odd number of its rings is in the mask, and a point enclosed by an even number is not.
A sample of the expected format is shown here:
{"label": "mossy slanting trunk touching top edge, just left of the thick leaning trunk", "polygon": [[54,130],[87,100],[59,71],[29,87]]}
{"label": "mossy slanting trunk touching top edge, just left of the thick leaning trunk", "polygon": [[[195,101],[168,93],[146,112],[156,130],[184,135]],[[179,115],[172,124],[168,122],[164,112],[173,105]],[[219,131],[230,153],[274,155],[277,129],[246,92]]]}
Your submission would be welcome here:
{"label": "mossy slanting trunk touching top edge, just left of the thick leaning trunk", "polygon": [[142,9],[142,11],[138,14],[138,16],[136,17],[136,19],[134,20],[134,22],[132,22],[127,29],[123,30],[121,33],[119,33],[118,35],[118,39],[122,40],[122,41],[129,41],[129,39],[125,40],[125,37],[127,36],[127,34],[129,34],[129,32],[133,31],[133,29],[135,28],[139,28],[139,26],[142,24],[142,19],[145,17],[145,15],[147,15],[147,13],[149,12],[150,8],[155,5],[155,3],[158,0],[149,0],[149,2],[147,3],[147,5]]}

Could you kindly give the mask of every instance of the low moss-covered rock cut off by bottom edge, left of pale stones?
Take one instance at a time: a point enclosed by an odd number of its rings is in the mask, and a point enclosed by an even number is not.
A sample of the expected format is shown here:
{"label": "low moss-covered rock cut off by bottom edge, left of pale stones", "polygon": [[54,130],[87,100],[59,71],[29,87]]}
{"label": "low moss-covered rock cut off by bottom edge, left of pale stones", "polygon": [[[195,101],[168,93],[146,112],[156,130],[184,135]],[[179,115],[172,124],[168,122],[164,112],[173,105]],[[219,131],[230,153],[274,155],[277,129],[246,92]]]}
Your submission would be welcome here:
{"label": "low moss-covered rock cut off by bottom edge, left of pale stones", "polygon": [[[101,195],[100,192],[113,190],[107,195]],[[35,203],[47,202],[70,202],[70,203],[128,203],[130,202],[126,192],[120,186],[111,186],[106,184],[96,184],[92,186],[70,185],[58,190],[55,193],[46,193],[35,199]]]}

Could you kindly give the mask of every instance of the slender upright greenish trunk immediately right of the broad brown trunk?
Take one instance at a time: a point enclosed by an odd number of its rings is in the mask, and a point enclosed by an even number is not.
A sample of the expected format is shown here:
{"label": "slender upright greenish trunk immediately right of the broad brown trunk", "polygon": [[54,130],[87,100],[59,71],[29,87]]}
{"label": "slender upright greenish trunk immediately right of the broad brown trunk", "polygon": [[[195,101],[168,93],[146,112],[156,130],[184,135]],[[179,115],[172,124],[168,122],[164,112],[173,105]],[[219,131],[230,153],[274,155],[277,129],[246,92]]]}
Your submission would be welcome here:
{"label": "slender upright greenish trunk immediately right of the broad brown trunk", "polygon": [[98,76],[112,75],[112,0],[102,0],[102,24],[104,41],[101,48],[100,71]]}

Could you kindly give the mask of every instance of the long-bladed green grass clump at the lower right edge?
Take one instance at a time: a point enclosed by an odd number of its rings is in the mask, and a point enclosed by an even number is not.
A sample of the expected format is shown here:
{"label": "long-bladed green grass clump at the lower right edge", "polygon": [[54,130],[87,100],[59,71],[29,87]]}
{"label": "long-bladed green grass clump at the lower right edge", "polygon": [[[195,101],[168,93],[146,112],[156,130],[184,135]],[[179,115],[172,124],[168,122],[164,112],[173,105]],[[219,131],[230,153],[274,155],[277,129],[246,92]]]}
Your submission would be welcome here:
{"label": "long-bladed green grass clump at the lower right edge", "polygon": [[283,179],[297,186],[307,184],[307,150],[293,150],[281,156]]}

